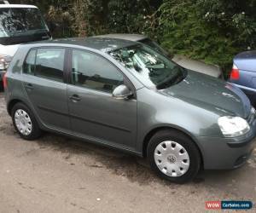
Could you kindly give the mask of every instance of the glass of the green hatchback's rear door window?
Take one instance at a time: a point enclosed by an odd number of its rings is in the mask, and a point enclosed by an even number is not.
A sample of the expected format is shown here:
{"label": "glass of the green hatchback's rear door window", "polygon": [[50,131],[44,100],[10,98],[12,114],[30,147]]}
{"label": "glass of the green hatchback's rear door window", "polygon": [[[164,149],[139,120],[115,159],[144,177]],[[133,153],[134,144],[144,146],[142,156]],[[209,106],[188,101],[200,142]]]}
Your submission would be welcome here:
{"label": "glass of the green hatchback's rear door window", "polygon": [[65,49],[32,49],[26,57],[23,72],[63,82]]}

